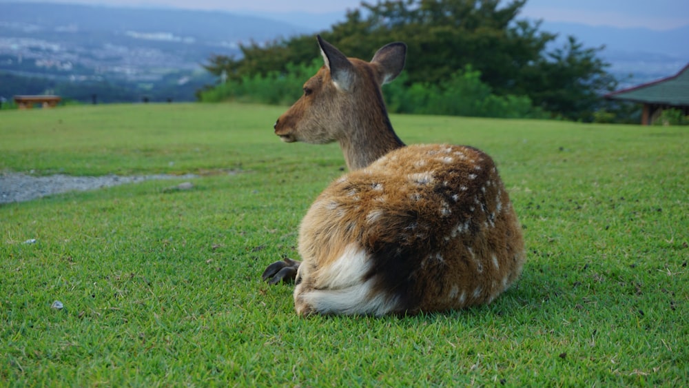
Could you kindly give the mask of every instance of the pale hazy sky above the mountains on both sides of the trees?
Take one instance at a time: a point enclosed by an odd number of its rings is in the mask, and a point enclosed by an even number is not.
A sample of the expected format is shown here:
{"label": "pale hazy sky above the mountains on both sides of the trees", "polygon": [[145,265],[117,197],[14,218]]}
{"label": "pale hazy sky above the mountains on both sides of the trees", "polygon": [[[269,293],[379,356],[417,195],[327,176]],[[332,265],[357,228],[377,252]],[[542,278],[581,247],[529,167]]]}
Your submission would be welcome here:
{"label": "pale hazy sky above the mountains on both sides of the trees", "polygon": [[[34,1],[34,0],[24,0]],[[358,8],[360,0],[35,0],[112,6],[173,7],[229,12],[342,12]],[[376,3],[376,0],[368,1]],[[522,17],[590,25],[646,27],[666,30],[689,25],[688,0],[528,0]],[[286,19],[285,21],[289,21]],[[326,25],[329,25],[327,23]]]}

